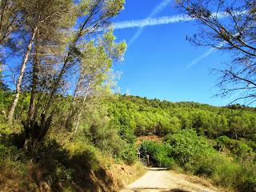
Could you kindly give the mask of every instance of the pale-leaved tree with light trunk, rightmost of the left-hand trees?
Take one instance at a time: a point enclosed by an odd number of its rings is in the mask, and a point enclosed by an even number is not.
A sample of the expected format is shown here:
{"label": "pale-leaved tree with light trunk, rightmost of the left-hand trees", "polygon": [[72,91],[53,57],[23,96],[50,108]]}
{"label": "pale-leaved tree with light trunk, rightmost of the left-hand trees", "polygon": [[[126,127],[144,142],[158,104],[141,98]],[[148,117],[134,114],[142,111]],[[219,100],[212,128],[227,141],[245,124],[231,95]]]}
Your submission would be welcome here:
{"label": "pale-leaved tree with light trunk, rightmost of the left-hand trees", "polygon": [[[86,44],[82,53],[82,61],[76,87],[74,89],[74,100],[70,106],[70,114],[68,124],[74,124],[74,132],[78,130],[78,124],[82,115],[82,110],[86,105],[86,100],[94,95],[100,96],[102,89],[108,89],[111,81],[107,82],[111,76],[111,66],[113,62],[122,58],[126,43],[114,42],[113,31],[107,31],[102,38],[98,38],[97,42],[89,42]],[[96,46],[94,45],[96,44]],[[82,99],[81,99],[82,98]]]}

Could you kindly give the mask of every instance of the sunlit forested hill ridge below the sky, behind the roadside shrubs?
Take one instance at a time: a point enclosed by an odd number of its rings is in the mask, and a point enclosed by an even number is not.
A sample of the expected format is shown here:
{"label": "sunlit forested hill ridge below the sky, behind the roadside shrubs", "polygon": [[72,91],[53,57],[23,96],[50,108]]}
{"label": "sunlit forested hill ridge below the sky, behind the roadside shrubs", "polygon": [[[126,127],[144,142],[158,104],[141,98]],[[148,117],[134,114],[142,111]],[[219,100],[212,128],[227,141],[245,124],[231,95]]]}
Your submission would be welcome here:
{"label": "sunlit forested hill ridge below the sky, behind the roadside shrubs", "polygon": [[[199,135],[256,139],[256,109],[246,106],[210,106],[196,102],[167,102],[120,95],[110,102],[109,115],[125,134],[166,135],[193,128]],[[126,133],[127,132],[127,133]]]}

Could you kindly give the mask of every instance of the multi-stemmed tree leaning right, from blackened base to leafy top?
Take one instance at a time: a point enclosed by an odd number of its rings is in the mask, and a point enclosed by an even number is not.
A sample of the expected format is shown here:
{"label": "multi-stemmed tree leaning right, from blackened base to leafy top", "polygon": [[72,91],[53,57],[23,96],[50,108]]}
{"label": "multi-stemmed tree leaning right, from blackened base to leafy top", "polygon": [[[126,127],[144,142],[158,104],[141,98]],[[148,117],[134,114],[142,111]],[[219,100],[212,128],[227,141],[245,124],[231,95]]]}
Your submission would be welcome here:
{"label": "multi-stemmed tree leaning right, from blackened base to leafy top", "polygon": [[[85,52],[84,42],[90,42],[92,38],[97,39],[104,33],[105,27],[108,30],[109,20],[122,10],[123,0],[80,1],[76,8],[77,24],[74,30],[65,31],[64,34],[68,36],[68,41],[62,46],[62,51],[48,57],[42,56],[40,51],[38,54],[38,50],[34,49],[34,54],[39,57],[34,55],[33,62],[41,64],[39,64],[38,75],[34,75],[34,77],[38,76],[34,78],[35,83],[33,83],[32,71],[32,85],[36,84],[38,90],[35,99],[30,100],[30,111],[34,111],[31,113],[33,118],[31,116],[23,122],[28,147],[34,148],[45,137],[52,118],[55,117],[54,114],[58,113],[59,99],[73,90],[74,79],[77,79],[82,72],[82,67],[80,67],[82,60],[89,56]],[[66,19],[69,20],[69,18]],[[53,41],[52,35],[49,41]],[[35,48],[40,47],[42,42],[39,41],[38,46],[36,44],[37,42],[34,43]],[[56,46],[54,43],[50,45]],[[48,65],[49,63],[51,65]],[[37,68],[36,66],[34,69]],[[86,65],[84,67],[86,68]]]}

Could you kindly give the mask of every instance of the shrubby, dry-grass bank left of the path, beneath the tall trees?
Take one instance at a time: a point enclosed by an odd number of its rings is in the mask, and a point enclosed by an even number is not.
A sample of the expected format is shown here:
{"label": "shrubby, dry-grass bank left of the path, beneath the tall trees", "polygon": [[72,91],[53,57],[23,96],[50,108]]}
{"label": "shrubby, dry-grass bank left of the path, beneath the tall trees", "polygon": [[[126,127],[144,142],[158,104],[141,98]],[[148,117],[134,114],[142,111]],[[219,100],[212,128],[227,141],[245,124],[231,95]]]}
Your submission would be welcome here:
{"label": "shrubby, dry-grass bank left of the path, beneath the tall trees", "polygon": [[[75,136],[63,126],[63,117],[69,114],[66,106],[70,98],[62,98],[58,108],[62,116],[54,118],[46,138],[35,150],[26,151],[23,148],[25,131],[21,120],[26,118],[30,95],[22,94],[15,110],[14,126],[6,123],[5,112],[13,94],[0,91],[0,95],[1,190],[116,191],[143,173],[142,166],[136,162],[134,143],[122,140],[118,130],[108,123],[106,101],[109,98],[90,99],[91,106],[82,114]],[[116,164],[119,166],[115,167]],[[115,173],[121,172],[124,165],[130,165],[125,171],[132,175]]]}

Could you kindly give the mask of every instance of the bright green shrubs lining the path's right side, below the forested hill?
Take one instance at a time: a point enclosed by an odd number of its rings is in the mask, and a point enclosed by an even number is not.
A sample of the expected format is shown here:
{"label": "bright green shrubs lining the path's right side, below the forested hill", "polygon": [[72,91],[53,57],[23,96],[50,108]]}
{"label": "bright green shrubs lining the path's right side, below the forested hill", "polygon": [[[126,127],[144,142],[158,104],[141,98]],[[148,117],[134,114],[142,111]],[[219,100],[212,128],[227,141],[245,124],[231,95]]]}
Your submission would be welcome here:
{"label": "bright green shrubs lining the path's right side, below the forested hill", "polygon": [[[218,142],[229,146],[238,155],[238,160],[251,153],[249,146],[226,136],[219,137]],[[254,158],[242,160],[242,164],[232,160],[233,158],[227,158],[208,145],[194,130],[180,130],[177,134],[168,135],[166,143],[170,145],[170,154],[175,162],[191,173],[212,178],[220,186],[254,191]],[[252,155],[250,157],[254,157]]]}

